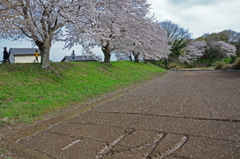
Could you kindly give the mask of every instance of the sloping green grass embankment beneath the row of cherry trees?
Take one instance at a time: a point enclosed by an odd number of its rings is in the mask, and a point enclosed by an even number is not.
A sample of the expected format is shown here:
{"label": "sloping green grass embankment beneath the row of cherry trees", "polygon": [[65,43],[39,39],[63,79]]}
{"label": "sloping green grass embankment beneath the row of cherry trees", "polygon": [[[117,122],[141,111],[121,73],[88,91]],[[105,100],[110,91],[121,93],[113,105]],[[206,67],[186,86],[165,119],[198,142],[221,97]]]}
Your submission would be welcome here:
{"label": "sloping green grass embankment beneath the row of cherry trees", "polygon": [[151,79],[166,70],[135,62],[0,65],[1,119],[31,123],[46,114]]}

